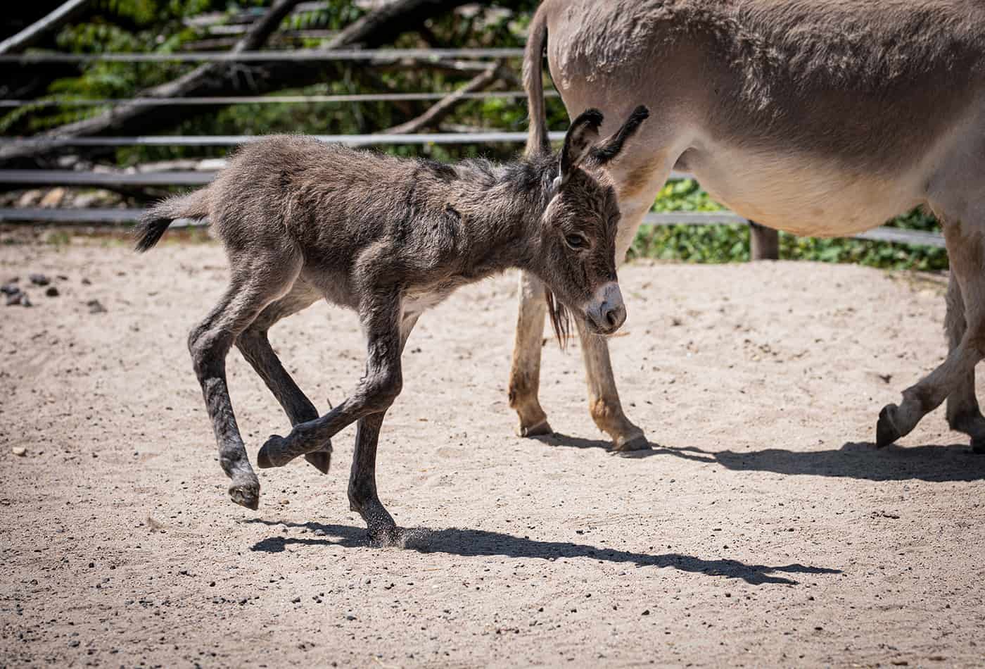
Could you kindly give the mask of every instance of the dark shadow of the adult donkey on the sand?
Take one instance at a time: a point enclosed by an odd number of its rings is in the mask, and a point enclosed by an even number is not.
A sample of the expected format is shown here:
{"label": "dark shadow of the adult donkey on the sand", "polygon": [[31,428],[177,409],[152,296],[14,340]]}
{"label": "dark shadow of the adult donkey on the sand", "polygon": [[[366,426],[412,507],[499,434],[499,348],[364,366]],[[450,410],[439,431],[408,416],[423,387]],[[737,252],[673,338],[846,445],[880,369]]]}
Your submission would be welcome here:
{"label": "dark shadow of the adult donkey on the sand", "polygon": [[931,483],[972,482],[985,479],[985,458],[965,444],[887,446],[849,441],[827,450],[704,450],[695,447],[663,446],[655,455],[697,462],[718,463],[726,469],[860,479],[863,481],[927,481]]}

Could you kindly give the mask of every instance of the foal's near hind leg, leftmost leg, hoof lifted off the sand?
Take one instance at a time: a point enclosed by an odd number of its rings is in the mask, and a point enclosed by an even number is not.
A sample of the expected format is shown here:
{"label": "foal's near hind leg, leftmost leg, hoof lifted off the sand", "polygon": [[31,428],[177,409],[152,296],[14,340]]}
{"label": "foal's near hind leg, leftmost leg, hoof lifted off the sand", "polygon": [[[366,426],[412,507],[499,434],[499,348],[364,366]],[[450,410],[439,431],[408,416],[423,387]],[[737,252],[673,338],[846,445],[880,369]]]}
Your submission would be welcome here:
{"label": "foal's near hind leg, leftmost leg, hoof lifted off the sand", "polygon": [[188,350],[202,385],[209,418],[219,443],[219,464],[230,477],[233,502],[257,508],[260,482],[250,467],[226,382],[226,356],[236,337],[271,301],[288,292],[300,271],[300,256],[278,257],[256,266],[230,258],[230,287],[205,320],[188,335]]}

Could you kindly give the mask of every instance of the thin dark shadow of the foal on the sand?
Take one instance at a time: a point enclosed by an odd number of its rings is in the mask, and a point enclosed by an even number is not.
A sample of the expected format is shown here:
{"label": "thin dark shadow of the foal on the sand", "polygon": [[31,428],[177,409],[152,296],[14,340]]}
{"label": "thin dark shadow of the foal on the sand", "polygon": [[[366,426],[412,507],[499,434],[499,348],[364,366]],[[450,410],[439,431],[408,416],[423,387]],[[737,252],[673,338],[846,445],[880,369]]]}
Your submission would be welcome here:
{"label": "thin dark shadow of the foal on the sand", "polygon": [[[349,525],[326,525],[317,522],[291,523],[253,518],[247,523],[262,523],[270,526],[305,528],[317,532],[317,539],[300,537],[269,537],[254,544],[250,550],[260,553],[282,553],[288,545],[301,546],[342,546],[359,548],[372,546],[366,531]],[[419,553],[445,553],[465,558],[505,556],[508,558],[590,558],[612,563],[633,565],[636,568],[658,567],[679,569],[709,576],[741,578],[747,583],[780,583],[793,585],[798,581],[775,572],[796,574],[841,573],[840,569],[808,567],[799,564],[769,567],[766,565],[747,565],[737,560],[703,560],[678,553],[647,555],[615,549],[596,548],[587,544],[572,544],[566,541],[536,541],[526,537],[514,537],[501,532],[448,528],[430,530],[412,528],[401,530],[404,533],[403,547]],[[324,538],[323,538],[324,537]],[[327,538],[334,537],[334,538]]]}

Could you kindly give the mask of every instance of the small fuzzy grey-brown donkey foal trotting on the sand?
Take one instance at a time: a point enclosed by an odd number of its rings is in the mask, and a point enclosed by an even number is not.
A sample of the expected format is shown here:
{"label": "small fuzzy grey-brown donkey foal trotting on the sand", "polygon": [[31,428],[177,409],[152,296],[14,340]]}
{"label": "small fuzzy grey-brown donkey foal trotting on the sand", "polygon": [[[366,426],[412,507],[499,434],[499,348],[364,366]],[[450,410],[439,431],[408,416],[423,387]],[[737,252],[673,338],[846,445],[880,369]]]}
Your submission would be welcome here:
{"label": "small fuzzy grey-brown donkey foal trotting on the sand", "polygon": [[[299,455],[328,471],[331,437],[358,422],[349,499],[376,538],[393,519],[375,484],[383,416],[401,390],[400,357],[421,313],[459,286],[510,267],[539,277],[567,311],[599,335],[623,324],[616,276],[616,192],[602,167],[647,116],[637,108],[600,142],[602,114],[571,124],[560,156],[547,151],[495,166],[397,159],[277,136],[240,151],[209,186],[164,200],[138,229],[151,248],[178,218],[207,218],[230,259],[230,286],[188,337],[219,442],[230,497],[257,508],[260,485],[236,427],[226,381],[235,344],[294,429],[260,449],[262,468]],[[267,330],[319,298],[359,313],[367,339],[355,392],[319,417],[281,365]]]}

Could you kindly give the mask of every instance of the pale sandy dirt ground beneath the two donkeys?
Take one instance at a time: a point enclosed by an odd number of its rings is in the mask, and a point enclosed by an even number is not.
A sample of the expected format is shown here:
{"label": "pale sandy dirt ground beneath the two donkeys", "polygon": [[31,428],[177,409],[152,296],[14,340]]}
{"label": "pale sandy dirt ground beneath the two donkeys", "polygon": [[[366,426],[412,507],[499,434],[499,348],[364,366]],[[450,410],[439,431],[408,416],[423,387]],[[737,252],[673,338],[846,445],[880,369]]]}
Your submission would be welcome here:
{"label": "pale sandy dirt ground beneath the two donkeys", "polygon": [[[560,434],[514,436],[515,277],[464,289],[411,338],[380,443],[383,502],[427,529],[380,549],[347,502],[353,430],[328,476],[229,501],[185,348],[217,245],[0,247],[0,280],[31,272],[60,295],[0,306],[0,665],[985,665],[985,457],[943,411],[871,443],[943,358],[942,277],[624,268],[636,457],[592,424],[577,346],[545,347]],[[351,313],[272,340],[321,410],[361,374]],[[287,419],[236,352],[230,388],[252,456]]]}

